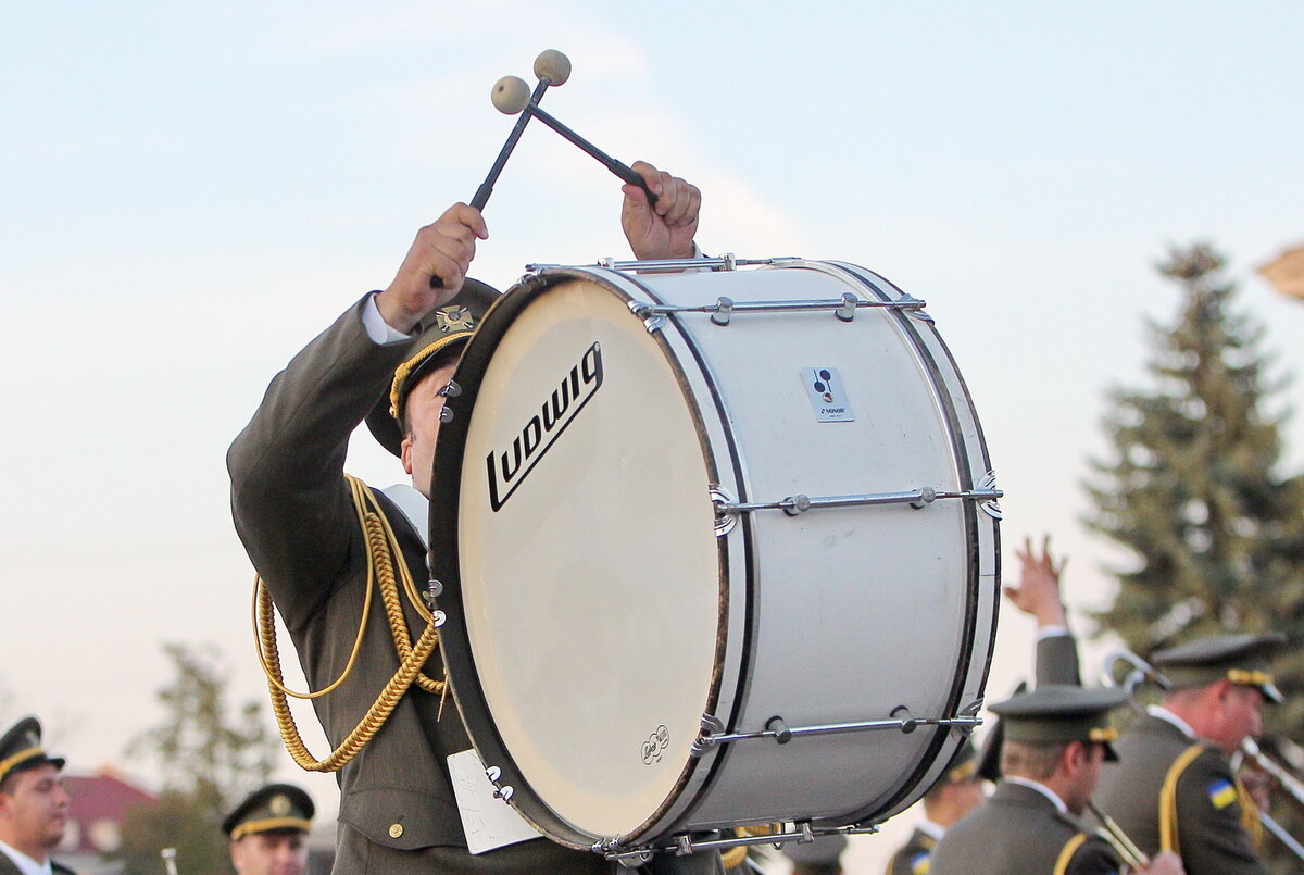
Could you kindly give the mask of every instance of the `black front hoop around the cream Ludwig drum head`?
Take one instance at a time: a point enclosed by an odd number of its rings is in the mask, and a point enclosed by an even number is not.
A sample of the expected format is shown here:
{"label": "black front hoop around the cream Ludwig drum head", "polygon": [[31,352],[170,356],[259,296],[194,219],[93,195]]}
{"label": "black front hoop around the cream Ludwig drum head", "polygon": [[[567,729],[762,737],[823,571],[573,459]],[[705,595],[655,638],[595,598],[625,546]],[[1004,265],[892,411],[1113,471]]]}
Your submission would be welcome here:
{"label": "black front hoop around the cream Ludwig drum head", "polygon": [[[473,419],[475,399],[479,395],[481,376],[485,373],[485,368],[493,359],[493,353],[497,351],[502,338],[506,335],[511,325],[514,325],[516,317],[527,306],[529,306],[544,291],[565,279],[587,280],[601,286],[623,300],[630,300],[629,292],[625,288],[621,288],[618,283],[613,282],[613,276],[634,283],[632,278],[617,271],[606,271],[602,269],[550,267],[536,275],[526,276],[516,286],[507,289],[502,297],[494,301],[493,306],[489,308],[488,313],[481,319],[480,329],[467,343],[467,348],[463,352],[458,369],[454,374],[454,381],[458,383],[460,393],[455,399],[450,398],[447,402],[447,406],[454,408],[455,415],[450,421],[441,425],[439,439],[436,445],[436,475],[430,489],[432,496],[439,497],[438,501],[430,502],[430,572],[432,576],[439,580],[443,587],[442,596],[438,601],[439,608],[442,608],[447,614],[447,619],[441,630],[439,645],[445,666],[449,670],[450,679],[452,681],[450,687],[452,690],[458,711],[462,715],[462,720],[466,724],[467,733],[471,737],[477,754],[481,756],[481,762],[486,768],[490,765],[498,767],[498,769],[501,769],[498,782],[501,785],[510,785],[516,790],[510,801],[512,808],[529,822],[531,825],[539,829],[540,833],[544,833],[558,844],[578,850],[595,850],[595,838],[614,838],[615,841],[623,844],[629,837],[643,837],[649,835],[653,828],[668,827],[674,822],[674,818],[691,807],[691,803],[700,795],[700,793],[704,792],[704,788],[709,785],[711,777],[716,773],[715,767],[719,755],[716,751],[708,751],[700,758],[689,758],[683,764],[681,773],[675,779],[673,789],[657,810],[653,811],[643,824],[625,836],[595,837],[593,833],[572,825],[561,815],[554,812],[542,801],[539,793],[531,788],[529,782],[526,780],[524,775],[512,759],[507,743],[498,733],[498,728],[492,719],[492,711],[488,705],[485,691],[480,685],[479,673],[475,670],[476,661],[471,649],[469,636],[459,635],[459,631],[464,631],[467,629],[466,614],[462,604],[462,566],[458,546],[460,518],[459,507],[462,497],[463,451],[471,420]],[[652,292],[642,284],[634,284],[643,293],[655,297],[655,295],[652,295]],[[631,313],[630,318],[636,317]],[[705,430],[702,421],[703,411],[699,409],[696,395],[690,390],[689,381],[685,378],[685,373],[681,368],[681,361],[675,355],[673,355],[669,344],[666,344],[665,339],[661,336],[653,335],[653,338],[661,346],[664,357],[675,372],[675,381],[683,394],[685,407],[694,417],[694,426],[702,445],[703,460],[708,468],[708,475],[712,481],[717,481],[719,471],[716,458],[712,452],[713,447],[705,438]],[[692,344],[690,344],[690,347],[691,346]],[[698,355],[695,348],[694,355]],[[468,365],[475,366],[468,368]],[[475,376],[472,377],[471,374]],[[712,393],[715,394],[715,387],[712,387]],[[733,442],[732,432],[729,434],[729,439]],[[728,550],[725,550],[724,546],[724,544],[717,544],[717,574],[721,584],[730,579],[729,557]],[[721,591],[724,599],[728,599],[728,587],[721,586]],[[721,673],[721,656],[728,645],[728,604],[721,604],[716,623],[716,660],[705,703],[705,711],[708,713],[715,712],[716,705],[720,702],[720,691],[724,681]],[[464,668],[464,677],[455,675],[454,666]],[[490,763],[489,759],[493,762]],[[699,781],[699,786],[694,792],[692,797],[686,798],[683,793],[685,788],[692,782],[692,777],[703,768],[705,769],[705,776]],[[520,793],[522,788],[528,792]]]}

